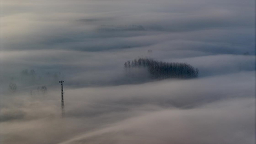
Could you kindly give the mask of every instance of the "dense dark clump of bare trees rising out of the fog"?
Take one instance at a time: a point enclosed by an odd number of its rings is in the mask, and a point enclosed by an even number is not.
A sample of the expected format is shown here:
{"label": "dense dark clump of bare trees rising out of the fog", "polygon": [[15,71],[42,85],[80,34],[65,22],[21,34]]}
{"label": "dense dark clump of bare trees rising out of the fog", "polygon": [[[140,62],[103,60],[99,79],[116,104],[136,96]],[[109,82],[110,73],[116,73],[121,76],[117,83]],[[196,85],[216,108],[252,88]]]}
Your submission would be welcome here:
{"label": "dense dark clump of bare trees rising out of the fog", "polygon": [[154,79],[198,77],[198,69],[188,63],[162,62],[150,58],[139,58],[124,63],[125,69],[140,67],[147,68],[150,77]]}

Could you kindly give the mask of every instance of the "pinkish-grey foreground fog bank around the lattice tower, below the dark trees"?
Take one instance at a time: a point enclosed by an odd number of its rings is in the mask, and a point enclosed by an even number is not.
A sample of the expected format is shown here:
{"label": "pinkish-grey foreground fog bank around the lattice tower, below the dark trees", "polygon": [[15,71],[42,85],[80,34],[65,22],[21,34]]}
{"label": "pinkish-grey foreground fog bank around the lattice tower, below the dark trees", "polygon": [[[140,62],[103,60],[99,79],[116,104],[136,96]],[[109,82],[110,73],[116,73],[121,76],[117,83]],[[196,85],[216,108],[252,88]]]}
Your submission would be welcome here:
{"label": "pinkish-grey foreground fog bank around the lattice tower, below the dark trees", "polygon": [[70,89],[65,91],[65,119],[60,118],[57,90],[44,97],[6,97],[1,101],[1,118],[5,119],[1,122],[1,140],[253,143],[253,75],[254,72],[243,72],[184,81]]}

